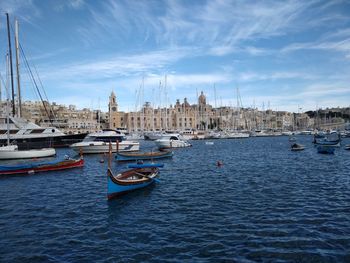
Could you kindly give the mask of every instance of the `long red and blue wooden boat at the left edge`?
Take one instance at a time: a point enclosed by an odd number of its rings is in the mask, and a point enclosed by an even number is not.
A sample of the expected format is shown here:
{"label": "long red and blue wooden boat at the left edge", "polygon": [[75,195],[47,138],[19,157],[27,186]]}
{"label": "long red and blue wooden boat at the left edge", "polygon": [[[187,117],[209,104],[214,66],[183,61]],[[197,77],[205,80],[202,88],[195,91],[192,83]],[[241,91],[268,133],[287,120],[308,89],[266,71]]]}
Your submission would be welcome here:
{"label": "long red and blue wooden boat at the left edge", "polygon": [[84,159],[64,159],[52,162],[33,162],[20,165],[0,166],[0,175],[32,174],[82,167]]}

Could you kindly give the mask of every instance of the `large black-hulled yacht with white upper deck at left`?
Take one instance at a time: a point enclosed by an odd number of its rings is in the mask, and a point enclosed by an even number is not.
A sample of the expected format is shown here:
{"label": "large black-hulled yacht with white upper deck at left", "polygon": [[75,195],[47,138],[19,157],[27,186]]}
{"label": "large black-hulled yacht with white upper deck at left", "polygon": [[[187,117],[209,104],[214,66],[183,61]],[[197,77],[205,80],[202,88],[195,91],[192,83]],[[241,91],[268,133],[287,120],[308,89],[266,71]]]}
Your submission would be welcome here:
{"label": "large black-hulled yacht with white upper deck at left", "polygon": [[55,127],[41,127],[26,119],[9,116],[0,117],[0,145],[5,145],[8,139],[16,144],[19,150],[39,149],[47,147],[68,147],[72,143],[80,142],[86,136],[81,134],[64,134]]}

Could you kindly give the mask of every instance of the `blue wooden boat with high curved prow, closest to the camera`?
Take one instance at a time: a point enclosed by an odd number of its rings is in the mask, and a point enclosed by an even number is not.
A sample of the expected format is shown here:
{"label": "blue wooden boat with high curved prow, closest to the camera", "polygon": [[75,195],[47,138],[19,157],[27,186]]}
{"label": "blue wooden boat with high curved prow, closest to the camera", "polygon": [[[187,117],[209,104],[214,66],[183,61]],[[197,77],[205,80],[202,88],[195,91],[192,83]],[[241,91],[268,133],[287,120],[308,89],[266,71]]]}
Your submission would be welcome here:
{"label": "blue wooden boat with high curved prow, closest to the camera", "polygon": [[115,176],[112,170],[108,168],[107,198],[112,199],[127,192],[149,186],[155,182],[158,173],[159,169],[157,167],[150,167],[127,170]]}

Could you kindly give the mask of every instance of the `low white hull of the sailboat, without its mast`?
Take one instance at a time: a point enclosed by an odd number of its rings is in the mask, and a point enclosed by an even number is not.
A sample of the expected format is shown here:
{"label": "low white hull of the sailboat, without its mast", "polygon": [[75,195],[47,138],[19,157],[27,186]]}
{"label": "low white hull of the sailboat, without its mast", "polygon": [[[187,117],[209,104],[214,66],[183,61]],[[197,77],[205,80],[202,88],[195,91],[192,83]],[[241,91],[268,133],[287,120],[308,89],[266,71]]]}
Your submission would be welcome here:
{"label": "low white hull of the sailboat, without its mast", "polygon": [[54,148],[18,150],[17,145],[0,147],[0,160],[44,158],[56,155]]}

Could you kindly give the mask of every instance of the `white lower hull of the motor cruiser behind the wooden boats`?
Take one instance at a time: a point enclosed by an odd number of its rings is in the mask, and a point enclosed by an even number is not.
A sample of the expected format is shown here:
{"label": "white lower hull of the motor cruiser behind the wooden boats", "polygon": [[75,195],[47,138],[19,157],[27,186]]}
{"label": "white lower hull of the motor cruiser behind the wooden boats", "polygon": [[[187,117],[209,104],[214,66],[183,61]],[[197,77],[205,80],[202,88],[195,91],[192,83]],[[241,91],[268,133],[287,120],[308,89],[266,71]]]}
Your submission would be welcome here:
{"label": "white lower hull of the motor cruiser behind the wooden boats", "polygon": [[[122,141],[120,143],[112,142],[112,152],[133,152],[140,150],[140,143],[133,141]],[[79,142],[74,143],[70,146],[76,152],[82,153],[108,153],[109,143],[108,142]]]}

